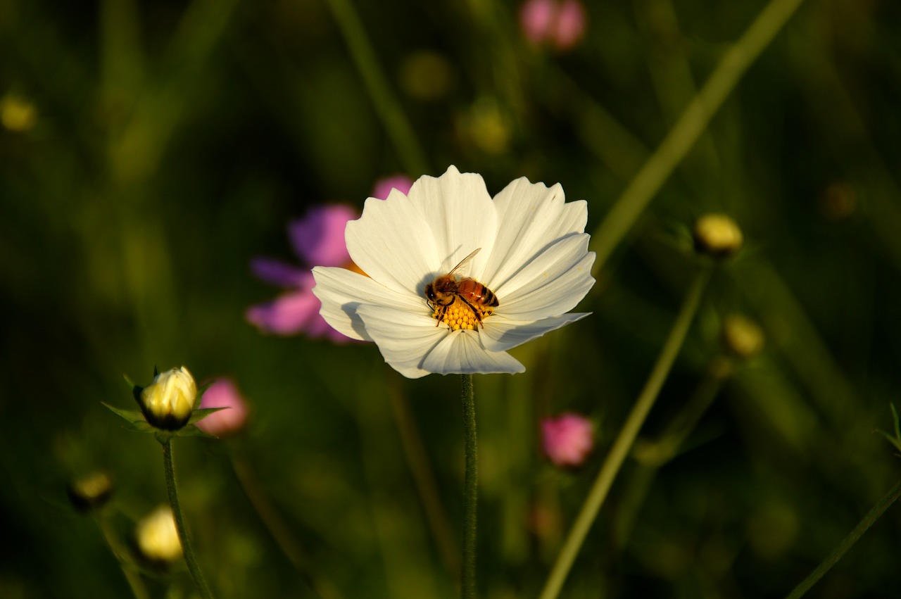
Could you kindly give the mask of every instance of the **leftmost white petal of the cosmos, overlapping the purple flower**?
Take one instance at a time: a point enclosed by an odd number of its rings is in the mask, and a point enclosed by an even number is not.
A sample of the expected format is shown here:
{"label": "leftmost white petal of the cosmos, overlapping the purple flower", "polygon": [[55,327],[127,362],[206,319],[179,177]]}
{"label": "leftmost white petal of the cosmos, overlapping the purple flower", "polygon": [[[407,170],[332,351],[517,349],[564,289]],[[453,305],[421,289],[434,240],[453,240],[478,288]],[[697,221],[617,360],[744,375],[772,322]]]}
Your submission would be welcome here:
{"label": "leftmost white petal of the cosmos, overlapping the purple flower", "polygon": [[316,267],[313,277],[313,294],[323,304],[319,313],[336,331],[351,339],[372,340],[357,313],[360,305],[385,305],[401,314],[423,310],[424,300],[418,302],[345,268]]}

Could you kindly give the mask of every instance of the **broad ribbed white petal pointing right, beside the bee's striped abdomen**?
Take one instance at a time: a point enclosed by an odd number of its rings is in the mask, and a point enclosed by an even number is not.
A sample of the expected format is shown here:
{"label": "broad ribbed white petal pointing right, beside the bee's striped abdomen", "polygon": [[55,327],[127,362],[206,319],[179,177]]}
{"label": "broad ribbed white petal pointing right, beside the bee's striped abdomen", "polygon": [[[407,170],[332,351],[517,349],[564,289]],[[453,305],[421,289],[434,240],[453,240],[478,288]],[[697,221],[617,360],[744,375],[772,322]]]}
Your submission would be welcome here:
{"label": "broad ribbed white petal pointing right, beside the bee's striped abdomen", "polygon": [[595,253],[588,250],[585,233],[551,246],[520,268],[505,286],[492,289],[499,313],[532,322],[572,310],[595,284],[591,265]]}

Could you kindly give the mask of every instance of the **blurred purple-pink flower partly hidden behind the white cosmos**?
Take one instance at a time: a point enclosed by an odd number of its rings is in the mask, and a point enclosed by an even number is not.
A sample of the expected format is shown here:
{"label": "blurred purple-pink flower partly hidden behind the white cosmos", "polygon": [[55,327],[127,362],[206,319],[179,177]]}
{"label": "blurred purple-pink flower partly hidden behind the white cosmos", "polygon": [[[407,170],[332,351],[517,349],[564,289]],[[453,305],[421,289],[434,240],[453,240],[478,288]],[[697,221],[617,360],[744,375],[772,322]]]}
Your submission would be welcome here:
{"label": "blurred purple-pink flower partly hidden behind the white cosmos", "polygon": [[[376,182],[372,196],[385,199],[392,188],[410,191],[413,181],[396,175]],[[287,231],[295,253],[304,266],[296,267],[282,260],[256,258],[250,269],[260,279],[287,291],[274,300],[248,308],[245,317],[260,331],[277,335],[304,333],[307,337],[326,337],[336,343],[350,339],[329,326],[319,315],[321,304],[311,291],[315,285],[310,269],[316,266],[359,268],[350,260],[344,241],[344,228],[359,213],[347,205],[333,204],[311,208],[302,219],[288,223]]]}

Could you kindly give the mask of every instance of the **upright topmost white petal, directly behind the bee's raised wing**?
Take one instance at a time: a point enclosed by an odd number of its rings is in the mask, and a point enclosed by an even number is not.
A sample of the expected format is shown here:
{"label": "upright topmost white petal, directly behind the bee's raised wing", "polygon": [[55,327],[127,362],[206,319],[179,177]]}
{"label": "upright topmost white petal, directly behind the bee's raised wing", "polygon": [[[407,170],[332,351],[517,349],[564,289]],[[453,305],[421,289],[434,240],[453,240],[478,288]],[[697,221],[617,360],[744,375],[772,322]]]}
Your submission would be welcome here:
{"label": "upright topmost white petal, directly behind the bee's raised wing", "polygon": [[491,256],[497,222],[495,204],[482,177],[461,174],[451,166],[441,177],[420,177],[409,196],[421,207],[438,252],[440,262],[433,267],[432,278],[450,271],[477,248],[482,251],[472,260],[469,272],[462,274],[481,276]]}

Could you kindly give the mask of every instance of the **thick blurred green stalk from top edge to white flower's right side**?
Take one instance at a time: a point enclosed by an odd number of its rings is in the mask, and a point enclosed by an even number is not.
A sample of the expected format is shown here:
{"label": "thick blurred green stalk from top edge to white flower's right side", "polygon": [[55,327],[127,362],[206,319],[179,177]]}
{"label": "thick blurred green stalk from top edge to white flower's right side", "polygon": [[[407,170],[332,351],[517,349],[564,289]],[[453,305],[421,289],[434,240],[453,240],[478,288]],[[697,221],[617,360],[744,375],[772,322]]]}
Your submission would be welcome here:
{"label": "thick blurred green stalk from top edge to white flower's right side", "polygon": [[745,71],[760,56],[803,0],[770,0],[744,35],[726,51],[701,90],[688,103],[660,147],[651,155],[632,182],[616,200],[604,222],[591,236],[597,258],[591,274],[603,268],[614,248],[623,240],[638,217],[688,150],[695,145],[714,114],[738,84]]}

